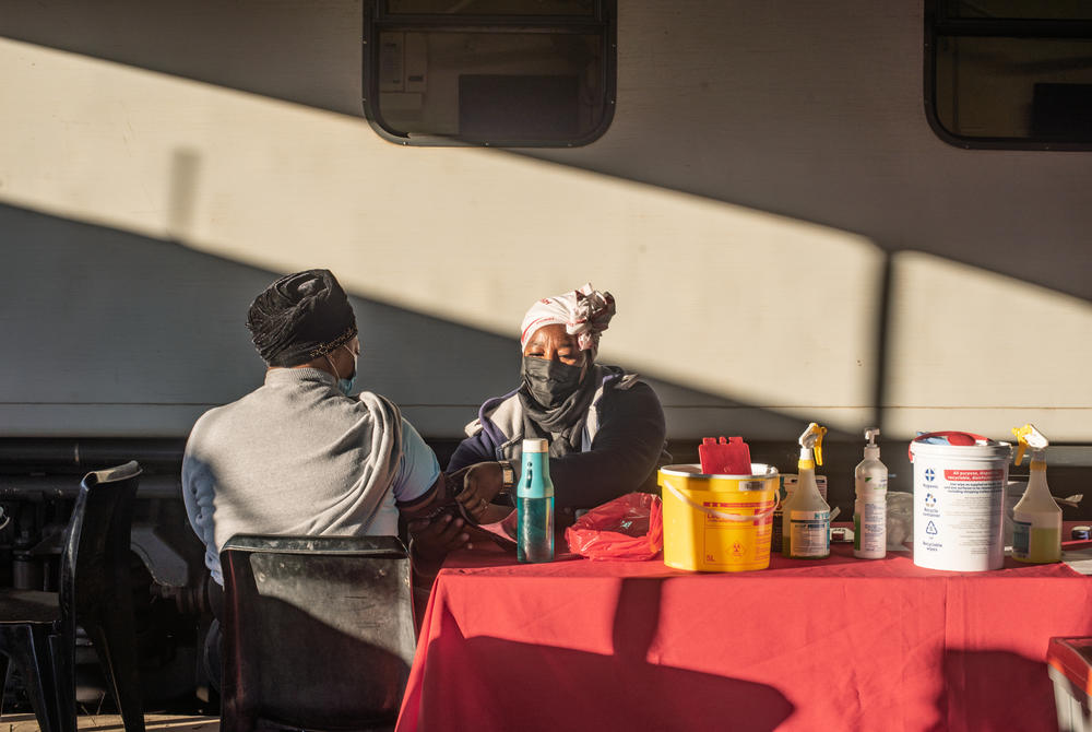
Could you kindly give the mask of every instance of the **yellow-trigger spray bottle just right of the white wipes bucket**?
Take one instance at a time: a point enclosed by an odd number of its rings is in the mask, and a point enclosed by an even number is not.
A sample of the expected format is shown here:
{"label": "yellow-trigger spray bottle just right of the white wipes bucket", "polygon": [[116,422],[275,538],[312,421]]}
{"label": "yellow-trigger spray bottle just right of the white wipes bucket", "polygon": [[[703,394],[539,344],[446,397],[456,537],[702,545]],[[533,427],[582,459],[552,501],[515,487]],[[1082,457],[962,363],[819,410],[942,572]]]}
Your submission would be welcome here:
{"label": "yellow-trigger spray bottle just right of the white wipes bucket", "polygon": [[1046,484],[1046,437],[1031,423],[1013,427],[1020,440],[1017,461],[1031,448],[1028,489],[1012,509],[1012,558],[1032,564],[1047,564],[1061,559],[1061,509]]}

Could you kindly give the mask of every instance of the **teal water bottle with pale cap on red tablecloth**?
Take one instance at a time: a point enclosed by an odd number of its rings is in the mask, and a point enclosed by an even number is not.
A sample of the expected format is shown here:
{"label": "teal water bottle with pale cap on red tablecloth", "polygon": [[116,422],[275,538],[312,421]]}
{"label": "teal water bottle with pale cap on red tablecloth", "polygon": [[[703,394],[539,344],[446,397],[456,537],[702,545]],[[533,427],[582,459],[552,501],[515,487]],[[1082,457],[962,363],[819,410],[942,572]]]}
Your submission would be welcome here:
{"label": "teal water bottle with pale cap on red tablecloth", "polygon": [[549,444],[523,440],[523,471],[515,489],[515,555],[520,562],[554,560],[554,483],[549,480]]}

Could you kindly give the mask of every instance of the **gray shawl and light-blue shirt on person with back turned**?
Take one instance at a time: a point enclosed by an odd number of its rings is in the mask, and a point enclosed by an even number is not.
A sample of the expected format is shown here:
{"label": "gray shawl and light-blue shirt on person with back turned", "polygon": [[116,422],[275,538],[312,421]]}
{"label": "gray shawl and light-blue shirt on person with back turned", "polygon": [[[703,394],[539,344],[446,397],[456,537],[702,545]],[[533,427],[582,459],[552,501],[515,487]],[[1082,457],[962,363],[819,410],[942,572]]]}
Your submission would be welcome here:
{"label": "gray shawl and light-blue shirt on person with back turned", "polygon": [[223,585],[219,551],[235,534],[397,534],[395,501],[424,495],[438,475],[392,402],[346,397],[319,369],[277,368],[193,425],[182,499]]}

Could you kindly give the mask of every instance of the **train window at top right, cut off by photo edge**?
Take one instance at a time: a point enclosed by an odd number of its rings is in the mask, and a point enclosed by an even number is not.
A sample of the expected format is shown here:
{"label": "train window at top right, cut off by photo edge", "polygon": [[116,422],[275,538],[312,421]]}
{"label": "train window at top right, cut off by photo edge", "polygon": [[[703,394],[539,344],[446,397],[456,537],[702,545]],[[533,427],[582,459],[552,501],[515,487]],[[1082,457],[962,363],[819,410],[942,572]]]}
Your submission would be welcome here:
{"label": "train window at top right, cut off by photo edge", "polygon": [[1092,149],[1092,2],[929,0],[929,123],[962,147]]}

